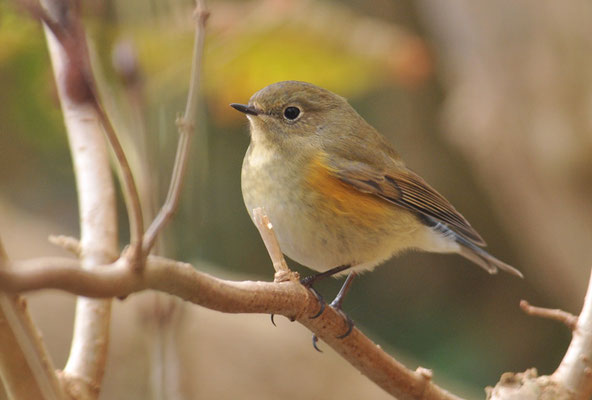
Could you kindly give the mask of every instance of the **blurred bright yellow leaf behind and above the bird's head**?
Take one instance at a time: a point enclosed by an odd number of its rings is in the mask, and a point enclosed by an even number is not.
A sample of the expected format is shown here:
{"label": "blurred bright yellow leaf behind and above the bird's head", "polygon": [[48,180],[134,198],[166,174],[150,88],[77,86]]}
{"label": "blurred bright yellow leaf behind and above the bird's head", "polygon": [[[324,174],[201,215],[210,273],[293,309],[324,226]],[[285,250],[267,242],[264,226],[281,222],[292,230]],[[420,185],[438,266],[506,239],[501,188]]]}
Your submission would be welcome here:
{"label": "blurred bright yellow leaf behind and above the bird's head", "polygon": [[[149,83],[150,91],[163,92],[169,85],[185,88],[193,37],[187,35],[187,29],[162,33],[143,28],[134,30],[134,42],[140,58],[146,60],[142,64],[146,73],[160,78]],[[208,37],[204,76],[208,77],[205,79],[208,97],[216,108],[224,111],[230,99],[248,99],[269,82],[315,81],[342,92],[359,93],[377,81],[367,60],[351,57],[331,43],[295,29],[257,32],[229,43],[230,49],[216,42],[220,39],[215,33]],[[184,55],[185,62],[179,60],[179,55]],[[348,79],[351,76],[356,79]],[[232,115],[219,112],[225,117]]]}

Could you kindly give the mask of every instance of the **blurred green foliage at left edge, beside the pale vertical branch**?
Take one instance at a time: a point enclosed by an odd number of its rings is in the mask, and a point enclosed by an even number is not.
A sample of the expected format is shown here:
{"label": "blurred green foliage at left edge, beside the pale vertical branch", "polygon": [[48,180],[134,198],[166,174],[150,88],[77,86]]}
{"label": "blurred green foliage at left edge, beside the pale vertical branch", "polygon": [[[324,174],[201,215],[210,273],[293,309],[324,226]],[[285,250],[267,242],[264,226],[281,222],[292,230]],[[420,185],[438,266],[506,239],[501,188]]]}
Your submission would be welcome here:
{"label": "blurred green foliage at left edge, beside the pale vertical branch", "polygon": [[[75,203],[61,207],[64,195],[75,199],[75,188],[43,34],[6,2],[0,3],[0,88],[2,193],[74,223]],[[26,184],[31,177],[35,185]]]}

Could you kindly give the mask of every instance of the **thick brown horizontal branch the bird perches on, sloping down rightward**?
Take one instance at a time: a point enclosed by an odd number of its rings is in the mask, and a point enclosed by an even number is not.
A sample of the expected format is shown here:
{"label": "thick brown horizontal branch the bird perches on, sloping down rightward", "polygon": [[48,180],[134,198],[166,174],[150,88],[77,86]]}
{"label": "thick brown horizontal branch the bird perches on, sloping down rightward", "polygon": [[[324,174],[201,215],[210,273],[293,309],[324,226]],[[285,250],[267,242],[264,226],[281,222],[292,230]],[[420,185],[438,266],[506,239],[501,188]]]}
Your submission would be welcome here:
{"label": "thick brown horizontal branch the bird perches on, sloping down rightward", "polygon": [[354,328],[345,339],[343,318],[331,307],[316,319],[318,302],[298,281],[282,283],[234,282],[197,271],[192,265],[149,256],[144,271],[133,271],[121,258],[114,264],[85,270],[72,259],[44,259],[17,263],[0,270],[0,289],[30,291],[61,289],[89,297],[122,297],[154,289],[194,304],[228,313],[281,314],[309,328],[343,358],[399,399],[452,400],[458,397],[434,385],[428,374],[407,370]]}

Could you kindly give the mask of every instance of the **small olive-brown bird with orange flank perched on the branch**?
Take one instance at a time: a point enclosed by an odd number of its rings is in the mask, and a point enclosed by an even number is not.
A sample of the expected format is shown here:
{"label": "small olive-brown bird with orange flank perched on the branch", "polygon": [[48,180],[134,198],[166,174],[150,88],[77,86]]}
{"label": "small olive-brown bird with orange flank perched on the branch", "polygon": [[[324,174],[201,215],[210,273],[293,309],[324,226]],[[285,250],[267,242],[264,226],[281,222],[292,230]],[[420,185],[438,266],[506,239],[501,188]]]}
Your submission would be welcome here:
{"label": "small olive-brown bird with orange flank perched on the branch", "polygon": [[302,280],[317,297],[314,282],[349,272],[331,303],[340,312],[357,273],[408,249],[458,253],[490,274],[522,277],[482,249],[469,222],[343,97],[284,81],[231,106],[250,122],[241,181],[251,218],[263,207],[282,251],[319,271]]}

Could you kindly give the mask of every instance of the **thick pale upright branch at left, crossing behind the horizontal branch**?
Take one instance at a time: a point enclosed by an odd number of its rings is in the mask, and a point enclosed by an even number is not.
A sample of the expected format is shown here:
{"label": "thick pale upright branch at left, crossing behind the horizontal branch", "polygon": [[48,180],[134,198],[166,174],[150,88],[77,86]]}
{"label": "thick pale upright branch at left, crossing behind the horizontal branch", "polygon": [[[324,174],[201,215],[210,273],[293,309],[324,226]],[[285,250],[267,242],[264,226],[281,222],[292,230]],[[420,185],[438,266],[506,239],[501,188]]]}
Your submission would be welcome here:
{"label": "thick pale upright branch at left, crossing behind the horizontal branch", "polygon": [[[77,4],[58,0],[44,2],[61,26],[80,23]],[[44,26],[64,121],[68,132],[80,213],[82,266],[92,269],[113,261],[117,255],[115,188],[100,115],[88,98],[76,96],[86,85],[85,71],[72,51]],[[72,30],[70,30],[72,32]],[[83,35],[80,27],[77,34]],[[69,38],[69,40],[83,38]],[[78,68],[78,69],[77,69]],[[80,89],[77,91],[76,89]],[[105,371],[109,343],[111,300],[78,298],[70,357],[64,369],[67,390],[83,398],[96,398]]]}

